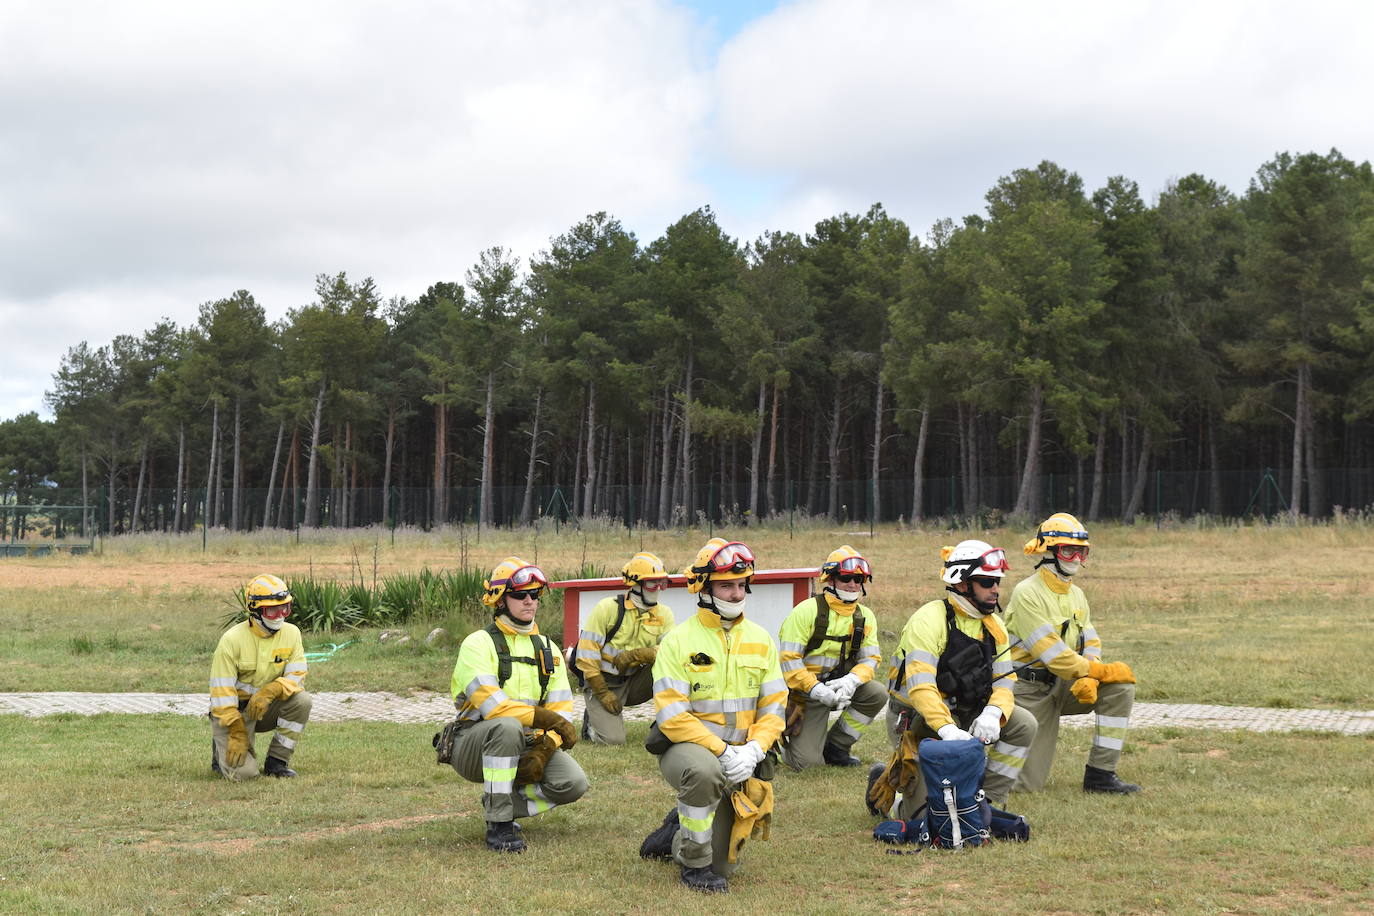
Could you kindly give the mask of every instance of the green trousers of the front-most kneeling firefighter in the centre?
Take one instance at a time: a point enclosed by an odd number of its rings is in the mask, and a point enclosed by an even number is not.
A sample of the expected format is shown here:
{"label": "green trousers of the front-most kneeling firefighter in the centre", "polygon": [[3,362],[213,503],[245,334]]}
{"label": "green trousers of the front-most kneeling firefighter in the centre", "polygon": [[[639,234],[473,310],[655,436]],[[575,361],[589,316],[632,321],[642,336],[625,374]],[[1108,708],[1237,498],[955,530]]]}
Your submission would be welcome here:
{"label": "green trousers of the front-most kneeling firefighter in the centre", "polygon": [[[772,779],[774,757],[754,769],[758,779]],[[658,769],[668,784],[677,790],[677,834],[673,858],[687,868],[710,869],[730,878],[743,854],[730,862],[730,831],[735,827],[735,806],[730,801],[732,786],[720,772],[720,759],[701,744],[682,742],[658,758]]]}

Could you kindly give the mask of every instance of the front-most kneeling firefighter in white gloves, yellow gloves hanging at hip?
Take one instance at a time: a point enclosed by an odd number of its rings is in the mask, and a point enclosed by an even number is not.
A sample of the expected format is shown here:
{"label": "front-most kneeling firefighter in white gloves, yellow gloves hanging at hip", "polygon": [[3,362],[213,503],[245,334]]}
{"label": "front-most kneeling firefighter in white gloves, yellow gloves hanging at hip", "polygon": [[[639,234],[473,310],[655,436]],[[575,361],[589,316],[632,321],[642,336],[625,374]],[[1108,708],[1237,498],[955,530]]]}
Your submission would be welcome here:
{"label": "front-most kneeling firefighter in white gloves, yellow gloves hanging at hip", "polygon": [[682,882],[725,893],[745,840],[768,838],[774,742],[787,685],[768,632],[743,617],[754,555],[713,537],[686,570],[697,614],[658,645],[657,717],[644,746],[677,792],[677,806],[644,839],[644,858],[673,858]]}

